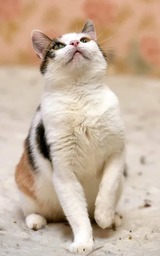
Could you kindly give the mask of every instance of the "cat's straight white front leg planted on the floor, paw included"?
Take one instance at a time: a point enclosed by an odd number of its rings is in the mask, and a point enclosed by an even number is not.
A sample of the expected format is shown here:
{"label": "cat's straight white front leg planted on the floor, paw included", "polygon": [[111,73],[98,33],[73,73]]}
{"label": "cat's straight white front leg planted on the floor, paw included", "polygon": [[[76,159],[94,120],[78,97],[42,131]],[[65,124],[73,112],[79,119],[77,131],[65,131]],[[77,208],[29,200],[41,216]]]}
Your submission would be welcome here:
{"label": "cat's straight white front leg planted on the floor, paw included", "polygon": [[89,253],[93,249],[93,236],[84,191],[70,168],[62,171],[54,167],[53,183],[74,234],[69,250],[71,253]]}

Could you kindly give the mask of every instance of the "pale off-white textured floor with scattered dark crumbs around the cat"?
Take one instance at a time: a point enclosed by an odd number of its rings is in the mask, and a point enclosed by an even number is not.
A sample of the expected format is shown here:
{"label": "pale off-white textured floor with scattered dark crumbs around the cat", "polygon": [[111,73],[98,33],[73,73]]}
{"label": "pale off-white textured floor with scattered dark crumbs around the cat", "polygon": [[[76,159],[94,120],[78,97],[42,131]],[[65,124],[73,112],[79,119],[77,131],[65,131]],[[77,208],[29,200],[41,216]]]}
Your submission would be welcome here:
{"label": "pale off-white textured floor with scattered dark crumbs around the cat", "polygon": [[[160,256],[160,81],[107,80],[125,121],[129,175],[119,204],[122,227],[108,231],[93,225],[94,248],[102,248],[90,255]],[[65,250],[73,239],[70,227],[27,230],[18,207],[14,169],[42,88],[38,70],[0,69],[0,256],[70,255]]]}

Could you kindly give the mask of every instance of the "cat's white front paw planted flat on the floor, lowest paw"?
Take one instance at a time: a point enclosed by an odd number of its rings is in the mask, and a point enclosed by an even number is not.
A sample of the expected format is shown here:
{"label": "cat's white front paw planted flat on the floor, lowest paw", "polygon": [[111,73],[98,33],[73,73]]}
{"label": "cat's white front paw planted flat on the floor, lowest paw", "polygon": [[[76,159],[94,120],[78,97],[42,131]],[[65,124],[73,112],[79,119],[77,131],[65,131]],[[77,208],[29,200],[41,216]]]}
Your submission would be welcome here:
{"label": "cat's white front paw planted flat on the floor, lowest paw", "polygon": [[93,242],[79,243],[74,242],[70,245],[69,250],[71,253],[85,254],[93,250]]}

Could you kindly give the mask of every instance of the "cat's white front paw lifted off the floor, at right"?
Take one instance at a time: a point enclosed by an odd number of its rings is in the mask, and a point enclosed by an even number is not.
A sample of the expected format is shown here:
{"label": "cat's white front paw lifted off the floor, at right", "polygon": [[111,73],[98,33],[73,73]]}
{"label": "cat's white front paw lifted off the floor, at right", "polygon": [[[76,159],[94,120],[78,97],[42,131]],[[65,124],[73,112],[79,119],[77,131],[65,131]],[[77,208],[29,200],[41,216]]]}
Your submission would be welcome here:
{"label": "cat's white front paw lifted off the floor, at right", "polygon": [[102,227],[103,229],[110,227],[113,223],[114,209],[107,209],[107,207],[96,205],[94,218],[99,227]]}

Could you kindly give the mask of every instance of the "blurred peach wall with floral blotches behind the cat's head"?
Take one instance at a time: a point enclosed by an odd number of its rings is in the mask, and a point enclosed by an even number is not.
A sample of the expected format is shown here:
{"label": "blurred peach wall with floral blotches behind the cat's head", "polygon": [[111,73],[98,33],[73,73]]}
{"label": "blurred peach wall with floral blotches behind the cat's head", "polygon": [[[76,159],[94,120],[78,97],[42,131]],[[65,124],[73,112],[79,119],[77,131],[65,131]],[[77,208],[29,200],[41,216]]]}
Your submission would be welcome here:
{"label": "blurred peach wall with floral blotches behind the cat's head", "polygon": [[107,39],[109,73],[160,77],[160,0],[0,0],[0,64],[35,65],[33,29],[53,38],[88,18]]}

